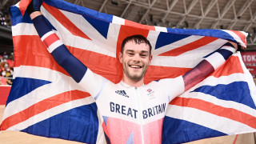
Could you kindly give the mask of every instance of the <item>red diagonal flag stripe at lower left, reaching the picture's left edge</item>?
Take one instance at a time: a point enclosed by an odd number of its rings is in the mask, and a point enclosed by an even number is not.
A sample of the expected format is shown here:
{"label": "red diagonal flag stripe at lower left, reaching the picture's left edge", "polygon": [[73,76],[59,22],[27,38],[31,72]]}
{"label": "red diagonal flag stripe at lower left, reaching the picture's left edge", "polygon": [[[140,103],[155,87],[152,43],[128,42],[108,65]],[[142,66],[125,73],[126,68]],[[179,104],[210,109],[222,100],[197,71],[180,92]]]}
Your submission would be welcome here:
{"label": "red diagonal flag stripe at lower left, reaching the picture's left edge", "polygon": [[[89,96],[90,96],[89,93],[79,91],[79,90],[71,90],[71,91],[66,91],[62,94],[55,95],[50,98],[46,98],[45,100],[42,100],[41,102],[35,103],[34,105],[30,106],[26,110],[22,110],[17,114],[14,114],[6,118],[1,124],[2,130],[6,130],[11,126],[15,126],[20,122],[24,122],[28,118],[31,118],[55,106],[59,106],[66,102],[71,102],[71,101],[86,98]],[[22,118],[20,118],[21,115],[22,115]]]}

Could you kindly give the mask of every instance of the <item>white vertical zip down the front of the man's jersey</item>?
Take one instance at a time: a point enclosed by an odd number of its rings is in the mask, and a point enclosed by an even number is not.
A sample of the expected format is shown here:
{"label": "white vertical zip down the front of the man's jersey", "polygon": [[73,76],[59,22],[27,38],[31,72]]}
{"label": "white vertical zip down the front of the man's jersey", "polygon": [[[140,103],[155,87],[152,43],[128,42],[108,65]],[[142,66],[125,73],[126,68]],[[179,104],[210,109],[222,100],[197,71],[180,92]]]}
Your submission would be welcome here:
{"label": "white vertical zip down the front of the man's jersey", "polygon": [[138,120],[141,126],[142,144],[144,144],[144,132],[143,132],[143,126],[142,126],[142,102],[141,102],[140,94],[138,94],[138,88],[134,87],[134,90],[137,98],[136,103],[138,107]]}

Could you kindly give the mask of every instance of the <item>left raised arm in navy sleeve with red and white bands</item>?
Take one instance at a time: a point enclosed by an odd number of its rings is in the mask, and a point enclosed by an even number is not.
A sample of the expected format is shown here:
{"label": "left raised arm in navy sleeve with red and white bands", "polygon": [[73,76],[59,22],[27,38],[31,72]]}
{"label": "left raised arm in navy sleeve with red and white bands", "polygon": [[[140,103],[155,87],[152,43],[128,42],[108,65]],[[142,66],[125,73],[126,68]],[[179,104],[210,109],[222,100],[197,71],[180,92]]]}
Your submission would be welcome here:
{"label": "left raised arm in navy sleeve with red and white bands", "polygon": [[70,53],[57,34],[50,29],[46,19],[40,12],[41,6],[41,0],[34,0],[30,2],[30,6],[26,10],[30,14],[30,18],[34,23],[35,29],[38,31],[39,37],[55,61],[74,78],[75,82],[80,82],[84,74],[86,74],[87,67]]}

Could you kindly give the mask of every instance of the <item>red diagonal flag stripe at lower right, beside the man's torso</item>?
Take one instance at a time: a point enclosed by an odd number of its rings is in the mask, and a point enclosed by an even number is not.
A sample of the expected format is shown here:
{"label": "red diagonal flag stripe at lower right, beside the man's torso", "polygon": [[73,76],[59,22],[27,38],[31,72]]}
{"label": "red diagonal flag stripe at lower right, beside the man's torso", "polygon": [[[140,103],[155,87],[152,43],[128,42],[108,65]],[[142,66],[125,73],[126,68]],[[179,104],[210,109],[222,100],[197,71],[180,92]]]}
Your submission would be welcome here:
{"label": "red diagonal flag stripe at lower right, beside the man's torso", "polygon": [[240,110],[235,110],[233,108],[214,105],[211,102],[206,102],[201,99],[177,97],[170,102],[170,105],[191,107],[198,110],[203,110],[209,112],[210,114],[215,114],[224,118],[230,118],[234,121],[241,122],[250,127],[253,127],[254,129],[256,128],[256,118],[254,116],[246,114]]}

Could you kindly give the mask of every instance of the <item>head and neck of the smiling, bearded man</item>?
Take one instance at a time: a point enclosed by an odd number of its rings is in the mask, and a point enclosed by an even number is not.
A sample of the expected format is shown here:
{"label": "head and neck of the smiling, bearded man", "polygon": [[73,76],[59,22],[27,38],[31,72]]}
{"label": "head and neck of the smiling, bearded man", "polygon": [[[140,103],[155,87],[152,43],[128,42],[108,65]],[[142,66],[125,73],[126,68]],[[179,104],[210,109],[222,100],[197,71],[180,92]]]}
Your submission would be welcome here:
{"label": "head and neck of the smiling, bearded man", "polygon": [[142,35],[134,35],[122,42],[119,60],[122,63],[122,81],[130,86],[142,86],[147,67],[152,60],[150,42]]}

